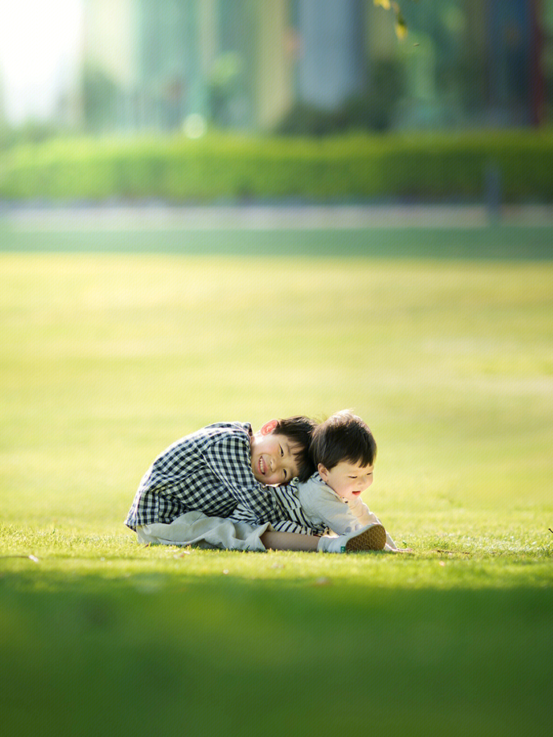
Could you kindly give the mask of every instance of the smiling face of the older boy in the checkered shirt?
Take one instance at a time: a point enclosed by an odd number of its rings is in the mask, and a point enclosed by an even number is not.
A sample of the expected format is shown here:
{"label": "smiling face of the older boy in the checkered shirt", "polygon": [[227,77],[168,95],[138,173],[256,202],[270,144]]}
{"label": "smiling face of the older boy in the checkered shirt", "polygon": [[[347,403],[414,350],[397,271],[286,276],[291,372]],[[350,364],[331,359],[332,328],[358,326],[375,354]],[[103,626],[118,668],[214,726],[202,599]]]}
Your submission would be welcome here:
{"label": "smiling face of the older boy in the checkered shirt", "polygon": [[266,427],[251,439],[251,470],[257,481],[268,486],[288,483],[299,473],[295,455],[299,449],[285,435]]}

